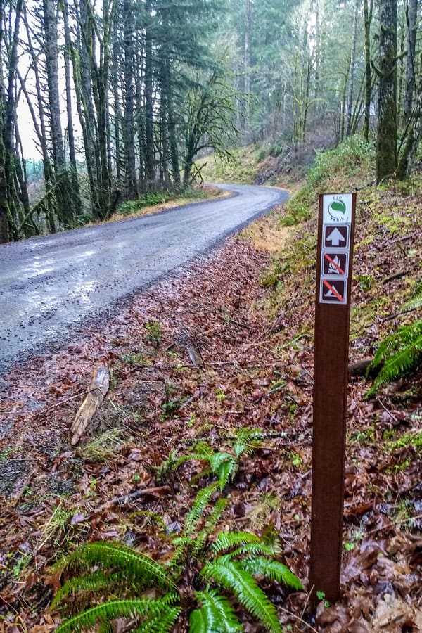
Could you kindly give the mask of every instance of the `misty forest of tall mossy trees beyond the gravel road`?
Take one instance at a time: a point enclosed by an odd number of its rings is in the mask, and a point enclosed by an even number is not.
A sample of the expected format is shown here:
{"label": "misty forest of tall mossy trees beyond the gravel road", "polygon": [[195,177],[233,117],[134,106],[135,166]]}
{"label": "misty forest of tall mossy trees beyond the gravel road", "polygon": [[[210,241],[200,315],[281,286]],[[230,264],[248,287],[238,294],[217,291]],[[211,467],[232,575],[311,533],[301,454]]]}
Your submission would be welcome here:
{"label": "misty forest of tall mossy trees beyond the gravel road", "polygon": [[0,19],[0,241],[178,191],[239,143],[309,164],[362,134],[378,182],[417,158],[417,0],[2,0]]}

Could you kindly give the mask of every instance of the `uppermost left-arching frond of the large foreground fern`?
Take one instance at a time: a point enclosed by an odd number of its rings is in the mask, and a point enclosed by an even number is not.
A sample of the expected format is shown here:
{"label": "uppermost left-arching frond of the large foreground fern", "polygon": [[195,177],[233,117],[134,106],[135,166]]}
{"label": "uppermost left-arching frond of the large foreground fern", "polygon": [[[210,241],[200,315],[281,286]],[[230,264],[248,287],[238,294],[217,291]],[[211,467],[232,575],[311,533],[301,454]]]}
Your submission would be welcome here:
{"label": "uppermost left-arching frond of the large foreground fern", "polygon": [[165,569],[152,558],[122,543],[96,541],[80,546],[68,558],[65,558],[64,569],[87,569],[91,565],[101,565],[108,569],[120,569],[131,580],[141,587],[173,587]]}

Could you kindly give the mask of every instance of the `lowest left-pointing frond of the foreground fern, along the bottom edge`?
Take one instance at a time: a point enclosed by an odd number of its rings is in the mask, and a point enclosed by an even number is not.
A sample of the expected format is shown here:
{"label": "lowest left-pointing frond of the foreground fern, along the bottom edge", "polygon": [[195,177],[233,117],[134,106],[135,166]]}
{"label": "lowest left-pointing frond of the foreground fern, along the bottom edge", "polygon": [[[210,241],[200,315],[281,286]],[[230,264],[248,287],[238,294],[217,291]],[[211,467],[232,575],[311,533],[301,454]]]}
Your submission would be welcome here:
{"label": "lowest left-pointing frond of the foreground fern, along the bottom edge", "polygon": [[151,599],[113,600],[91,607],[68,618],[57,629],[56,633],[79,633],[96,624],[115,620],[115,618],[143,618],[148,613],[156,613],[160,608],[167,608],[167,603]]}

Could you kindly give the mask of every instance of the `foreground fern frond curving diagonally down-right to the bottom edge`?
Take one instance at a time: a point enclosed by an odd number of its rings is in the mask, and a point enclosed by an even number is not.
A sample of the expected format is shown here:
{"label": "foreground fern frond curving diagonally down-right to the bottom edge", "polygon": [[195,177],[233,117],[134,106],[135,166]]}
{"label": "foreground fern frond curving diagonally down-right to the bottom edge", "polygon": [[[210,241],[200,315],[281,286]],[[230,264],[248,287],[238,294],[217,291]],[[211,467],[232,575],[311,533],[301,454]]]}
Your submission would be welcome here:
{"label": "foreground fern frond curving diagonally down-right to the bottom edge", "polygon": [[200,574],[207,580],[215,580],[225,589],[233,592],[238,601],[254,618],[257,618],[271,633],[281,633],[276,609],[255,579],[245,571],[238,561],[206,563]]}

